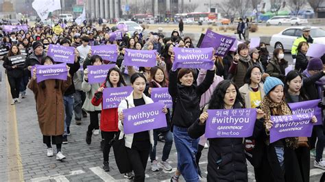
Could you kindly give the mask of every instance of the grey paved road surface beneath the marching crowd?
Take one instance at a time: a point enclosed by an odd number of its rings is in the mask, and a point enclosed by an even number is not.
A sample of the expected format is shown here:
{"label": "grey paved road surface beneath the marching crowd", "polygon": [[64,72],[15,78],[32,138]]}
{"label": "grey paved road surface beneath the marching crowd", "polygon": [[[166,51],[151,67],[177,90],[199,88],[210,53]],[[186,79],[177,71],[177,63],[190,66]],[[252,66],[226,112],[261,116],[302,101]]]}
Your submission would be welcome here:
{"label": "grey paved road surface beneath the marching crowd", "polygon": [[[80,126],[75,125],[73,120],[69,144],[62,146],[67,159],[56,161],[55,157],[47,157],[46,146],[43,144],[38,127],[32,92],[27,92],[27,98],[22,99],[22,103],[10,105],[8,81],[3,71],[1,72],[2,69],[1,66],[0,181],[126,181],[117,170],[112,152],[110,153],[111,171],[104,172],[101,169],[103,158],[99,147],[99,135],[93,136],[91,145],[86,144],[86,127],[89,118],[84,118]],[[158,142],[157,157],[161,157],[162,150],[163,143]],[[200,161],[203,181],[206,181],[207,151],[204,149]],[[176,170],[175,146],[171,150],[169,162],[173,167],[171,172],[161,169],[160,172],[152,172],[148,162],[146,181],[169,181],[173,171]],[[254,181],[254,172],[249,163],[248,170],[249,181]],[[311,169],[311,181],[319,181],[322,172],[320,169]]]}

